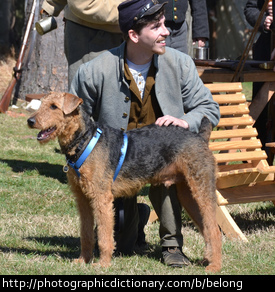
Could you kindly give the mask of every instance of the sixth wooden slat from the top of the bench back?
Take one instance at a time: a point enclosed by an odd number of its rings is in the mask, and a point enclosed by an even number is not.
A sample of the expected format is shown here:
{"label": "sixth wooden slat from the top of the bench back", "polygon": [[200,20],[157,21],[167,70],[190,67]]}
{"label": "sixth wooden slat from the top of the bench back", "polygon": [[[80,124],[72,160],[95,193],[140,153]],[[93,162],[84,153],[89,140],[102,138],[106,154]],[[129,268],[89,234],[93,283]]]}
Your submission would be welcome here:
{"label": "sixth wooden slat from the top of the bench back", "polygon": [[231,149],[256,149],[256,148],[261,148],[261,147],[262,147],[262,143],[258,139],[209,143],[209,149],[211,151],[231,150]]}

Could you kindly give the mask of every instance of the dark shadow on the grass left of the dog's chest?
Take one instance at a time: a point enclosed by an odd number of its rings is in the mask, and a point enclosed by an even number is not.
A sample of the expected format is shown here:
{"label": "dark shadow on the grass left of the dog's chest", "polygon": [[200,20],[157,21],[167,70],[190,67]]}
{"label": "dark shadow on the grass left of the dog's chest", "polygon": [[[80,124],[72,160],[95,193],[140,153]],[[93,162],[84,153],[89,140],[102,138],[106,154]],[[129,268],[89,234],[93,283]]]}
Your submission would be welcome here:
{"label": "dark shadow on the grass left of the dog's chest", "polygon": [[36,170],[40,175],[45,177],[54,178],[59,180],[62,184],[67,183],[66,174],[62,170],[62,166],[59,164],[50,164],[48,162],[30,162],[16,159],[2,159],[1,163],[6,163],[12,168],[13,172],[24,172]]}

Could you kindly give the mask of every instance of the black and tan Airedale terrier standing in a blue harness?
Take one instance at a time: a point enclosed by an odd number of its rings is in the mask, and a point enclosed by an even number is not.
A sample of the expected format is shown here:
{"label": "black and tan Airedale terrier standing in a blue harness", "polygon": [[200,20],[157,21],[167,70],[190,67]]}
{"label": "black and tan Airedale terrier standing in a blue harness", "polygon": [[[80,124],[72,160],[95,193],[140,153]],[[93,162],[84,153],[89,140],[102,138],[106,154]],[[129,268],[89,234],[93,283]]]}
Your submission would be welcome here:
{"label": "black and tan Airedale terrier standing in a blue harness", "polygon": [[[147,183],[166,187],[176,184],[179,201],[183,207],[188,203],[187,212],[204,236],[204,260],[209,264],[206,270],[219,271],[221,234],[216,222],[216,163],[208,148],[209,120],[202,120],[199,134],[157,125],[125,134],[94,122],[81,104],[82,99],[72,94],[50,93],[28,119],[29,127],[41,130],[37,136],[40,143],[57,137],[66,155],[65,168],[81,222],[81,254],[77,261],[88,263],[92,259],[95,222],[98,264],[111,264],[115,247],[114,198],[133,196]],[[92,152],[90,149],[87,153],[91,144]],[[191,192],[185,192],[186,185]]]}

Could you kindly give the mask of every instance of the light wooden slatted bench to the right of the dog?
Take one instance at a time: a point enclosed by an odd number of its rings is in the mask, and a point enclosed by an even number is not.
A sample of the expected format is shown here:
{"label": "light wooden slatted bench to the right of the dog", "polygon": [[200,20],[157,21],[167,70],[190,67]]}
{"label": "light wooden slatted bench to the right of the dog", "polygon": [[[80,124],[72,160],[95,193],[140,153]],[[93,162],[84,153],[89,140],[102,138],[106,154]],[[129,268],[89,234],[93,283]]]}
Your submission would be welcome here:
{"label": "light wooden slatted bench to the right of the dog", "polygon": [[229,238],[247,241],[226,205],[273,201],[275,166],[269,166],[241,83],[206,84],[219,104],[221,119],[210,137],[209,148],[217,160],[217,220]]}

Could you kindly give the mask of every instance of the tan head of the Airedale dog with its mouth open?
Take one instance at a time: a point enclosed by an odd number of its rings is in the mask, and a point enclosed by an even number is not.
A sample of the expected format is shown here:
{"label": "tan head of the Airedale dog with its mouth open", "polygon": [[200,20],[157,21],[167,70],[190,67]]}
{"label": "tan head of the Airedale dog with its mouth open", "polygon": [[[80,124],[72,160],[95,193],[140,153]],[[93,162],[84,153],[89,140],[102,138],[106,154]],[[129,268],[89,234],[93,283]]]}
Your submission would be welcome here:
{"label": "tan head of the Airedale dog with its mouth open", "polygon": [[40,108],[28,119],[28,126],[41,130],[37,140],[46,143],[62,134],[83,100],[70,93],[51,92],[41,101]]}

